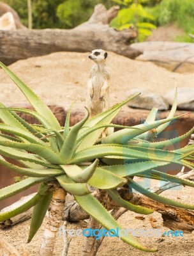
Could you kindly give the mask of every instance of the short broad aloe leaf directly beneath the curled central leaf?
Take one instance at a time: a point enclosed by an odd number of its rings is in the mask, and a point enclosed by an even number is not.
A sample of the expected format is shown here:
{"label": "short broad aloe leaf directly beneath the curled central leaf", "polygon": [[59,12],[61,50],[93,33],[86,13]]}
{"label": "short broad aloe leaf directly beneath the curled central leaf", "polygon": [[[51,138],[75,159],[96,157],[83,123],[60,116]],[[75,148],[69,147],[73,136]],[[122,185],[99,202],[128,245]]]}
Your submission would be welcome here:
{"label": "short broad aloe leaf directly beneath the curled central leaf", "polygon": [[86,183],[75,183],[65,174],[56,176],[56,179],[58,180],[61,187],[73,196],[84,196],[91,193],[87,188]]}

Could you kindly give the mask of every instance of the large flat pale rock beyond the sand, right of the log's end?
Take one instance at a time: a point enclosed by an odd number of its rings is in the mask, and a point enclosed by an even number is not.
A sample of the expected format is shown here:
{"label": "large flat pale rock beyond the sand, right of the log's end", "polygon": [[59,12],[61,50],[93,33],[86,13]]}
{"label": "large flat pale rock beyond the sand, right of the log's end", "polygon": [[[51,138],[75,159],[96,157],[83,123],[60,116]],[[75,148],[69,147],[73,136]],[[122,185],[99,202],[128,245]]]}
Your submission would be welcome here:
{"label": "large flat pale rock beyond the sand, right of the log's end", "polygon": [[144,52],[136,60],[151,61],[172,72],[193,73],[194,44],[192,43],[142,42],[131,44],[131,47]]}

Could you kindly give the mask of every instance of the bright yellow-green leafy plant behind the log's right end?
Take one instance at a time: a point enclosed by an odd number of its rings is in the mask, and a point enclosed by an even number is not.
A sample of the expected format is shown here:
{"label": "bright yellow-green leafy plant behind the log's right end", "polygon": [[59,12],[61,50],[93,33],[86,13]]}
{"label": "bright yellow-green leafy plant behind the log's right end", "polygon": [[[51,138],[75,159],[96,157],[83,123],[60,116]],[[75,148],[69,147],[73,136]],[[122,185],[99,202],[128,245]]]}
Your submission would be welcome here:
{"label": "bright yellow-green leafy plant behind the log's right end", "polygon": [[149,0],[137,1],[123,0],[120,1],[120,4],[127,6],[129,3],[132,3],[129,8],[123,8],[119,11],[117,17],[112,20],[111,25],[116,29],[125,29],[134,27],[138,31],[138,41],[144,41],[147,36],[150,36],[151,30],[155,29],[156,26],[150,22],[144,22],[144,20],[153,20],[153,15],[146,12],[140,3],[147,3]]}

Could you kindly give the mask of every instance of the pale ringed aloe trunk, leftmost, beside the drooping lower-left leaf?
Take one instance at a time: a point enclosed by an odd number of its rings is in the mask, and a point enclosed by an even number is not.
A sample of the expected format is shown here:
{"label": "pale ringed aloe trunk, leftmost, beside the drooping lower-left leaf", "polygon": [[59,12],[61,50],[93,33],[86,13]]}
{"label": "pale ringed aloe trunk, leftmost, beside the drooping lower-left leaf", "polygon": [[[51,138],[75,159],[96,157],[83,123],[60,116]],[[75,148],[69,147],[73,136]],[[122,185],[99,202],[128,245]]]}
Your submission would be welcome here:
{"label": "pale ringed aloe trunk, leftmost, beside the drooping lower-left leaf", "polygon": [[56,234],[59,232],[59,225],[62,221],[66,192],[63,188],[54,190],[50,206],[43,241],[40,247],[40,256],[52,256]]}

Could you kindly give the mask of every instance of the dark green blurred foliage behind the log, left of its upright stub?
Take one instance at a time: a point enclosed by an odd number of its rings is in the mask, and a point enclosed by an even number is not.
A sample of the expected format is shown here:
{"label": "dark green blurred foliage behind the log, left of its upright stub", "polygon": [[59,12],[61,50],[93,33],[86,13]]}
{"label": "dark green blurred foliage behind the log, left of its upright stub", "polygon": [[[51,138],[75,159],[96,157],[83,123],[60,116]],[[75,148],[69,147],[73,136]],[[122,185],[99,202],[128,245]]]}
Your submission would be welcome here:
{"label": "dark green blurred foliage behind the log, left of its upright stub", "polygon": [[[27,1],[4,0],[4,3],[16,10],[22,24],[27,26]],[[89,19],[98,3],[107,8],[112,5],[105,0],[32,0],[33,28],[74,28]]]}

